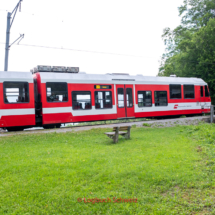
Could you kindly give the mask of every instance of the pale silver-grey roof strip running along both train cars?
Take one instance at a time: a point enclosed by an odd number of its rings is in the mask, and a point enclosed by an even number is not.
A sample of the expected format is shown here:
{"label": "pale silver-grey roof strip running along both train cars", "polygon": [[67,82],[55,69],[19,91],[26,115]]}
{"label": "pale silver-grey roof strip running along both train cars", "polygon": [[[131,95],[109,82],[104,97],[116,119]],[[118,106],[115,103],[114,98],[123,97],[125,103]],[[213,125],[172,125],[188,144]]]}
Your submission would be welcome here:
{"label": "pale silver-grey roof strip running along both train cars", "polygon": [[[207,85],[200,78],[154,77],[129,74],[87,74],[39,72],[41,82],[94,83],[94,84],[194,84]],[[0,81],[27,81],[33,83],[31,72],[0,72]]]}

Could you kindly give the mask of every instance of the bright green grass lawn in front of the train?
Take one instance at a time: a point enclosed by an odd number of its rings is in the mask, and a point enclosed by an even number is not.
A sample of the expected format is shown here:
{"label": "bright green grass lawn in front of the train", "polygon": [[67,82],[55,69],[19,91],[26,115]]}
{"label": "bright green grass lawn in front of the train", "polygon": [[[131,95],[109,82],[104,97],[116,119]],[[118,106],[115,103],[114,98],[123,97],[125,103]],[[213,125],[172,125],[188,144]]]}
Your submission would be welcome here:
{"label": "bright green grass lawn in front of the train", "polygon": [[105,131],[1,137],[0,214],[215,214],[214,126]]}

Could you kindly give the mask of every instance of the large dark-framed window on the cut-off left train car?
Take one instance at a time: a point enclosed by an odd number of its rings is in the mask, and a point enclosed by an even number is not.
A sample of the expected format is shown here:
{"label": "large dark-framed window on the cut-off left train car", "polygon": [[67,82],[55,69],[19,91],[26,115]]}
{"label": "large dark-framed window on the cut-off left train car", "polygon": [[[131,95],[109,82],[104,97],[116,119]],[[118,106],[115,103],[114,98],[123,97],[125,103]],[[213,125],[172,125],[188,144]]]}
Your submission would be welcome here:
{"label": "large dark-framed window on the cut-off left train car", "polygon": [[28,82],[4,82],[5,103],[29,102]]}

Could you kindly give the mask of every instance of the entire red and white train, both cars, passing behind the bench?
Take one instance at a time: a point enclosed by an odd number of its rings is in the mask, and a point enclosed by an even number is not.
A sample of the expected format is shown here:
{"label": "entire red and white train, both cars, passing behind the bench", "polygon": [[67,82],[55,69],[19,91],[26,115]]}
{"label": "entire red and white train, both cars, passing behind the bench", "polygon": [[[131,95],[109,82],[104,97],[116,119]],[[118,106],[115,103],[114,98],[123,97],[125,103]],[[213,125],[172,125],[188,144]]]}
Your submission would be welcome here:
{"label": "entire red and white train, both cars, passing behind the bench", "polygon": [[210,112],[207,83],[199,78],[95,75],[78,68],[38,66],[0,72],[0,127],[8,131],[124,118]]}

